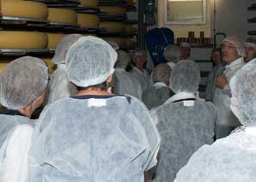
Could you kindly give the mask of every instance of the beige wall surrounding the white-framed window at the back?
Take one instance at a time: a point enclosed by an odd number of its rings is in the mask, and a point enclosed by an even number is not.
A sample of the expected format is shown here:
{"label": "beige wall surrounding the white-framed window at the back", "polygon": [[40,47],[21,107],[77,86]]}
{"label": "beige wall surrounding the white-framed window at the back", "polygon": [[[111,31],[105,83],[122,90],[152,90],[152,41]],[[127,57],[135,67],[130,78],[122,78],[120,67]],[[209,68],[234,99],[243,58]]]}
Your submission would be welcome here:
{"label": "beige wall surrounding the white-framed window at the back", "polygon": [[199,37],[199,32],[204,31],[204,37],[210,37],[211,35],[211,3],[212,0],[206,0],[206,23],[204,25],[166,25],[164,23],[164,4],[166,0],[158,0],[158,27],[169,27],[174,31],[175,38],[186,38],[188,37],[188,31],[194,31],[195,36]]}

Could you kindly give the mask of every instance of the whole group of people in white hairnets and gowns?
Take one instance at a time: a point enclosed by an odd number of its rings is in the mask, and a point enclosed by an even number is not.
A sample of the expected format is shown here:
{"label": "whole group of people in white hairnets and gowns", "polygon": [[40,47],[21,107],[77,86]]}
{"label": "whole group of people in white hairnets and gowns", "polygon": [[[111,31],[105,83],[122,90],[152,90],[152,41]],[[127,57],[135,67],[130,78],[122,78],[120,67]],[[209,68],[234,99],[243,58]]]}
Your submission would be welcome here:
{"label": "whole group of people in white hairnets and gowns", "polygon": [[169,45],[150,73],[145,50],[70,34],[51,75],[39,58],[10,62],[0,75],[0,181],[256,180],[256,41],[230,36],[212,50],[206,101],[190,51]]}

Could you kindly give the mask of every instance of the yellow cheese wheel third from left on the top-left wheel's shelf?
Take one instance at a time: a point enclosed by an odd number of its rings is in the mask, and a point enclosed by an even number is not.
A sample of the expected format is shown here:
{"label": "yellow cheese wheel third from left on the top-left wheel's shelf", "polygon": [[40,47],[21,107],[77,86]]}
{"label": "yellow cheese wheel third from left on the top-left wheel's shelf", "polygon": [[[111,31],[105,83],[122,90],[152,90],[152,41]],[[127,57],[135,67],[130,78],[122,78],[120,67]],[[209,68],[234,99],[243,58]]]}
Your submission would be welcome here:
{"label": "yellow cheese wheel third from left on the top-left wheel's shelf", "polygon": [[99,17],[91,14],[77,14],[77,24],[82,27],[99,27]]}

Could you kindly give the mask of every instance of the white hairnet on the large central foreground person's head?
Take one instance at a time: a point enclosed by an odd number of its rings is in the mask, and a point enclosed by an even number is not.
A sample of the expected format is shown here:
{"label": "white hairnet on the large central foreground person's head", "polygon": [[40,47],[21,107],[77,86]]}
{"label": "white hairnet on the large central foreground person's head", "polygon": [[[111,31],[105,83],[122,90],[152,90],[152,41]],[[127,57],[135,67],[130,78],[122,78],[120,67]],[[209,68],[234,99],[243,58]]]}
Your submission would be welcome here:
{"label": "white hairnet on the large central foreground person's head", "polygon": [[101,38],[79,38],[66,56],[70,82],[81,87],[101,84],[114,72],[117,56],[111,45]]}

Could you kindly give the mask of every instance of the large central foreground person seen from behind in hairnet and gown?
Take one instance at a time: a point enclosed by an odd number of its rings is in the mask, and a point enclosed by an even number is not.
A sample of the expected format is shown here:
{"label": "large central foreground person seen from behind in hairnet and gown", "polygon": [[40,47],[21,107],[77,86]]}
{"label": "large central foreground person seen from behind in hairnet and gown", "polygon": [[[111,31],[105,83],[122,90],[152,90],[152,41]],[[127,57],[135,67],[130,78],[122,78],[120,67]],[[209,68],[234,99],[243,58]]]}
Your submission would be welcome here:
{"label": "large central foreground person seen from behind in hairnet and gown", "polygon": [[30,181],[137,181],[156,163],[160,138],[136,97],[107,89],[117,53],[101,38],[79,38],[66,55],[78,94],[41,114],[30,150]]}

